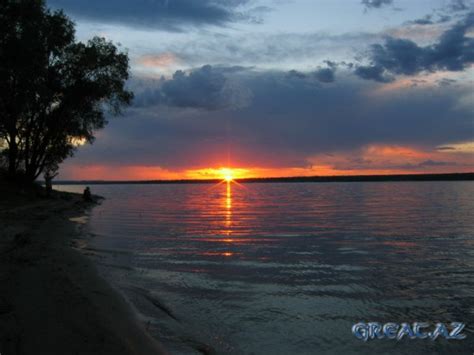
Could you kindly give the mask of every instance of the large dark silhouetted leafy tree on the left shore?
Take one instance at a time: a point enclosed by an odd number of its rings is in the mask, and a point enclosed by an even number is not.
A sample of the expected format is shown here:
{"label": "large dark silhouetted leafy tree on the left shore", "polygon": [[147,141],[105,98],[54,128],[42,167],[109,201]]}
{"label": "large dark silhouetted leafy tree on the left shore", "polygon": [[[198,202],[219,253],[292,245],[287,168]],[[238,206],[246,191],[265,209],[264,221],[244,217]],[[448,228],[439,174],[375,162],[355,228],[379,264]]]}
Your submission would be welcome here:
{"label": "large dark silhouetted leafy tree on the left shore", "polygon": [[95,37],[77,42],[73,22],[44,0],[0,2],[0,152],[9,176],[33,182],[94,141],[133,94],[128,55]]}

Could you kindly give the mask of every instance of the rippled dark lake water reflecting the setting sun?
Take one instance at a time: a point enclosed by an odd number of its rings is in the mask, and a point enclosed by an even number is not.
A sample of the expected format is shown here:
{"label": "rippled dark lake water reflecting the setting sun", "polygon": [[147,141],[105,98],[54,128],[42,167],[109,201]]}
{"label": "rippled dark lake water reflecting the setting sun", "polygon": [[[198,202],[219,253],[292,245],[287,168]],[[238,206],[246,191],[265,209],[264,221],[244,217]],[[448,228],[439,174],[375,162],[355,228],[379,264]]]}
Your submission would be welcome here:
{"label": "rippled dark lake water reflecting the setting sun", "polygon": [[[472,354],[474,182],[92,191],[87,251],[171,352]],[[460,321],[467,339],[364,343],[359,321]]]}

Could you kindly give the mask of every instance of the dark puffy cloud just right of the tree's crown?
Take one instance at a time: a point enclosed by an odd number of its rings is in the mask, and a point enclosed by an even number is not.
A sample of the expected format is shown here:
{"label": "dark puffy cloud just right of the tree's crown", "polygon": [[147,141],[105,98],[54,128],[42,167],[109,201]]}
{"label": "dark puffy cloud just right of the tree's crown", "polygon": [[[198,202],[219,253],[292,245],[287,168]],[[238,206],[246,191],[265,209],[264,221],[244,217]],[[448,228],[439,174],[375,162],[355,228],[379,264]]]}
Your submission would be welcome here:
{"label": "dark puffy cloud just right of the tree's crown", "polygon": [[[236,76],[242,67],[215,68],[205,65],[189,73],[178,70],[170,80],[151,80],[135,86],[136,106],[167,105],[205,110],[237,109],[248,105],[251,92],[239,85]],[[142,83],[143,84],[143,83]]]}

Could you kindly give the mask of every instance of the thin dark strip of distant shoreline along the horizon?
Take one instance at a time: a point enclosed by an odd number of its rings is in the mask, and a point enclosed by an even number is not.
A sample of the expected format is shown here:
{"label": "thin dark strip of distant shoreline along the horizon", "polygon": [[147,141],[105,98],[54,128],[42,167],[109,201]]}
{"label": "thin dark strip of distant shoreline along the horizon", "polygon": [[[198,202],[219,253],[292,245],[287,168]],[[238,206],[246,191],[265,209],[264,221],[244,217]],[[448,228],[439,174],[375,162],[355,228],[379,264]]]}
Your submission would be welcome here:
{"label": "thin dark strip of distant shoreline along the horizon", "polygon": [[[472,173],[396,174],[396,175],[341,175],[294,176],[235,179],[239,183],[322,183],[322,182],[390,182],[390,181],[473,181]],[[165,184],[216,184],[219,179],[182,180],[59,180],[55,185],[165,185]]]}

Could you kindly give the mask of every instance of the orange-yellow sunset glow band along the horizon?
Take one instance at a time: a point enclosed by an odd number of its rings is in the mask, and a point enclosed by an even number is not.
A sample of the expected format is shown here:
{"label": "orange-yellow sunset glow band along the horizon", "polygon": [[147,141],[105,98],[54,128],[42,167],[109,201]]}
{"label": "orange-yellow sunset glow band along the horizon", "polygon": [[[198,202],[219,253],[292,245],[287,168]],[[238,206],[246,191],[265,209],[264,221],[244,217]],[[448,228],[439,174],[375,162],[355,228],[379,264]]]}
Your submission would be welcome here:
{"label": "orange-yellow sunset glow band along the horizon", "polygon": [[[453,144],[448,150],[420,150],[414,147],[370,145],[357,152],[319,154],[307,158],[305,167],[215,166],[166,169],[159,166],[70,165],[62,168],[63,179],[71,180],[180,180],[213,179],[225,182],[245,178],[289,176],[335,176],[368,174],[414,174],[469,172],[473,170],[474,147]],[[443,162],[436,164],[432,162]],[[356,162],[356,163],[354,163]],[[425,162],[423,164],[423,162]],[[452,165],[449,165],[449,163]]]}

